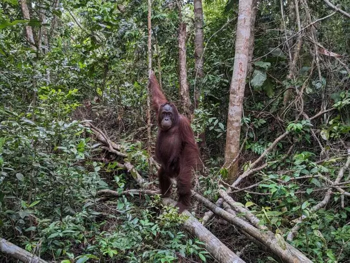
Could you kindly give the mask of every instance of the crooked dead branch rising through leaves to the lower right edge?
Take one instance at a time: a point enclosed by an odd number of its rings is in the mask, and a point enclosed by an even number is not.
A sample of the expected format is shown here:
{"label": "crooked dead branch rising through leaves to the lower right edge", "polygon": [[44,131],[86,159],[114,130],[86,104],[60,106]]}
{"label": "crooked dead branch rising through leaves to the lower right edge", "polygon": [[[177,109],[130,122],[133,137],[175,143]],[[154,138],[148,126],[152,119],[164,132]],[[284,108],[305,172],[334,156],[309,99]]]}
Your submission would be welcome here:
{"label": "crooked dead branch rising through leaves to the lower right edge", "polygon": [[[347,160],[346,160],[346,163],[344,164],[344,166],[342,168],[340,168],[339,172],[338,172],[338,175],[336,176],[335,180],[334,180],[334,184],[336,183],[339,183],[342,176],[344,175],[344,171],[345,169],[347,169],[350,165],[350,149],[347,150],[348,152],[348,156],[347,156]],[[329,199],[330,199],[330,196],[332,194],[332,189],[329,188],[325,195],[324,195],[324,198],[317,204],[313,205],[311,208],[310,208],[310,212],[313,213],[313,212],[316,212],[317,210],[319,210],[320,208],[324,207]],[[288,232],[287,234],[287,240],[288,241],[291,241],[293,240],[293,237],[295,236],[295,234],[297,233],[297,231],[300,229],[301,227],[301,223],[303,221],[303,219],[305,219],[306,216],[305,215],[302,215],[300,216],[296,221],[295,221],[295,225],[290,229],[290,231]]]}

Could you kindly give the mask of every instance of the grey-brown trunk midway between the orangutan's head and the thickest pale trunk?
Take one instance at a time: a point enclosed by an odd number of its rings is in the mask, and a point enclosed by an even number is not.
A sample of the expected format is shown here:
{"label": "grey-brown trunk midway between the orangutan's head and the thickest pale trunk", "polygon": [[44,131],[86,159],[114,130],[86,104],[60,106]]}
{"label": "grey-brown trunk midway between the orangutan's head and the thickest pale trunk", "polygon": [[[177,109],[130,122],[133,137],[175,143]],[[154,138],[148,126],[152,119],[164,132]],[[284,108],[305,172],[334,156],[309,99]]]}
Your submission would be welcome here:
{"label": "grey-brown trunk midway between the orangutan's head and the thickest pale trunk", "polygon": [[[195,22],[195,36],[194,36],[194,74],[195,74],[195,84],[194,84],[194,107],[198,107],[199,103],[199,86],[201,85],[202,78],[204,76],[203,64],[203,7],[201,0],[193,0],[194,9],[194,22]],[[200,149],[205,147],[205,129],[198,134],[200,141],[198,146]]]}

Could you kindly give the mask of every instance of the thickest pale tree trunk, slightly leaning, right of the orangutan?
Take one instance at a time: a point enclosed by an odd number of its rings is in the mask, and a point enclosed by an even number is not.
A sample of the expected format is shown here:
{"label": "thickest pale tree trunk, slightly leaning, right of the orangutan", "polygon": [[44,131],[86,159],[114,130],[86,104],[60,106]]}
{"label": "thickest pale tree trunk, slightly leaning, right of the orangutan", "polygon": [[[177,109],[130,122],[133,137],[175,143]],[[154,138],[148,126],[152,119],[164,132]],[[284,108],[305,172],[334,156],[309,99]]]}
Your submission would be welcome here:
{"label": "thickest pale tree trunk, slightly leaning, right of the orangutan", "polygon": [[240,120],[244,97],[245,78],[250,61],[251,28],[253,26],[253,0],[239,0],[235,54],[227,117],[225,167],[228,170],[227,182],[231,183],[238,169]]}

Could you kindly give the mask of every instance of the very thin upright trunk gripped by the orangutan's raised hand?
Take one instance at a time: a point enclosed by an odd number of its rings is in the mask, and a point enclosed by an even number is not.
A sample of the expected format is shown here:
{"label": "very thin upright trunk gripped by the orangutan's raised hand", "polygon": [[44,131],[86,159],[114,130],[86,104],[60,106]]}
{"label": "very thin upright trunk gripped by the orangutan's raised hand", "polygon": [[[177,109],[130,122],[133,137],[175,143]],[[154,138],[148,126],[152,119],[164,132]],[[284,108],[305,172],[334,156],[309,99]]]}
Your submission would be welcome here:
{"label": "very thin upright trunk gripped by the orangutan's raised hand", "polygon": [[148,172],[149,172],[149,178],[153,178],[153,172],[152,172],[152,159],[151,159],[151,135],[150,135],[150,75],[152,72],[152,28],[151,28],[151,0],[147,0],[148,3],[148,16],[147,16],[147,22],[148,22],[148,84],[147,84],[147,137],[148,137]]}

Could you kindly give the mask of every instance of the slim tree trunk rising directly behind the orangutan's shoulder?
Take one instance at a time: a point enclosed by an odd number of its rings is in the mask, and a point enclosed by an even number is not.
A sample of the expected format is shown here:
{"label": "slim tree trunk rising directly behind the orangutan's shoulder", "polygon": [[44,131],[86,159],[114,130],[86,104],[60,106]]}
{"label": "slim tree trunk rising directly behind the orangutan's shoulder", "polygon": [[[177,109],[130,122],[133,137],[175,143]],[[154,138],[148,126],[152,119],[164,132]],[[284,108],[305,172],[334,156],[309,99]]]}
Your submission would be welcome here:
{"label": "slim tree trunk rising directly behind the orangutan's shoulder", "polygon": [[176,2],[178,8],[178,63],[180,69],[180,99],[182,102],[182,112],[189,117],[191,101],[189,99],[187,69],[186,69],[186,24],[182,21],[181,5]]}

